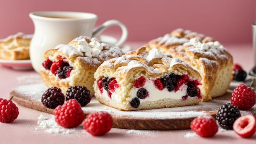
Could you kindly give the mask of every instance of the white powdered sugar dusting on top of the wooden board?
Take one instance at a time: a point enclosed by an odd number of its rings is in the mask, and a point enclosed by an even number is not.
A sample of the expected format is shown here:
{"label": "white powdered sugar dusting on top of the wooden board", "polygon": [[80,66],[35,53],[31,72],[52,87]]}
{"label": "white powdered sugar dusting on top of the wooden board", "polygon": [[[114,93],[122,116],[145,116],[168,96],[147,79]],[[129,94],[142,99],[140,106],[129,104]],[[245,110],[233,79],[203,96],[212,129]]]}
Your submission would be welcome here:
{"label": "white powdered sugar dusting on top of the wooden board", "polygon": [[[36,102],[41,102],[41,95],[46,89],[47,88],[43,83],[36,83],[36,84],[18,86],[17,88],[14,88],[14,91],[23,96],[26,96],[28,99],[35,100]],[[86,107],[82,107],[82,109],[86,111],[86,113],[91,113],[95,111],[107,111],[112,116],[117,116],[117,117],[128,116],[132,118],[172,119],[172,118],[196,117],[202,114],[206,114],[206,111],[217,112],[219,107],[227,102],[230,102],[230,99],[223,99],[223,97],[221,97],[221,98],[214,98],[213,100],[208,102],[200,102],[198,105],[185,106],[185,107],[149,109],[149,110],[140,110],[140,111],[120,111],[118,109],[114,109],[112,107],[102,105],[95,98],[93,98],[91,102],[88,105],[86,105]],[[241,111],[241,113],[243,113],[243,111]]]}

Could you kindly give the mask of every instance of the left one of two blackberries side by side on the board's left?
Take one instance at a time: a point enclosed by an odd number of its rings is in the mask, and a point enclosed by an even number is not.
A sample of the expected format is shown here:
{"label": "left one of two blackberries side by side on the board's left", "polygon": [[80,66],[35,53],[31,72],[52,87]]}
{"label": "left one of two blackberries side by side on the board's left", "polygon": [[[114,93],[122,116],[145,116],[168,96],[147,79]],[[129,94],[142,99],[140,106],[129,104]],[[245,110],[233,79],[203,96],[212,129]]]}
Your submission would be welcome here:
{"label": "left one of two blackberries side by side on the board's left", "polygon": [[60,88],[53,86],[48,88],[42,95],[41,102],[45,107],[55,109],[58,105],[62,105],[65,101],[65,95]]}

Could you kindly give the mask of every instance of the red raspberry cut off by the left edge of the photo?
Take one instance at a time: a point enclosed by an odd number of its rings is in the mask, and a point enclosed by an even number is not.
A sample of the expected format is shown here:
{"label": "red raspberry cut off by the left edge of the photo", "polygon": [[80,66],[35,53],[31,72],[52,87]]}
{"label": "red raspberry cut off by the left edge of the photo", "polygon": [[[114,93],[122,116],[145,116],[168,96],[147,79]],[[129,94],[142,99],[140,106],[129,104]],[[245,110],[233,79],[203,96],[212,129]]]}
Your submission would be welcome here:
{"label": "red raspberry cut off by the left edge of the photo", "polygon": [[19,115],[18,107],[12,100],[5,100],[0,98],[0,122],[10,123],[14,121]]}

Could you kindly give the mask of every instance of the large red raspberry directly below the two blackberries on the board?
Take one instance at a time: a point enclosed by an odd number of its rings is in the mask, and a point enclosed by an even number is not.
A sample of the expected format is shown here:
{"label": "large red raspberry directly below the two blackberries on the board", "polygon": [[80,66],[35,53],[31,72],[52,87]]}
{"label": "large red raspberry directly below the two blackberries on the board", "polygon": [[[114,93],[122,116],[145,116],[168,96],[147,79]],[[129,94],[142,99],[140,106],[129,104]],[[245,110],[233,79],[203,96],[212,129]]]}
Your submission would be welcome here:
{"label": "large red raspberry directly below the two blackberries on the board", "polygon": [[74,128],[84,121],[84,112],[75,99],[66,101],[53,111],[55,121],[64,128]]}

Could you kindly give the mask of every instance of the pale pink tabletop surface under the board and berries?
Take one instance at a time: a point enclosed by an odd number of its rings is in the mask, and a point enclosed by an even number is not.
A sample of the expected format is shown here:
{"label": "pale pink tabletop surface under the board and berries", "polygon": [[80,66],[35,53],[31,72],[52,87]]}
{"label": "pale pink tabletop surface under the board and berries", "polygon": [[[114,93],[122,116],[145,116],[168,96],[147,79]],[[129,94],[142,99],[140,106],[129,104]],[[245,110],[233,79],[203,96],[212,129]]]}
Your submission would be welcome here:
{"label": "pale pink tabletop surface under the board and berries", "polygon": [[[127,42],[133,49],[138,48],[145,42]],[[234,63],[242,65],[247,72],[253,67],[253,53],[251,44],[224,44],[233,55]],[[16,86],[40,81],[40,75],[33,70],[13,70],[0,65],[0,97],[10,98],[10,91]],[[91,136],[81,125],[72,129],[72,132],[49,133],[37,124],[40,114],[51,117],[34,109],[29,109],[21,105],[19,116],[12,123],[0,123],[0,143],[1,144],[256,144],[256,134],[250,138],[241,138],[233,130],[223,130],[219,128],[217,134],[211,138],[202,138],[191,130],[124,130],[112,128],[106,135],[100,137]],[[255,106],[254,106],[255,107]]]}

